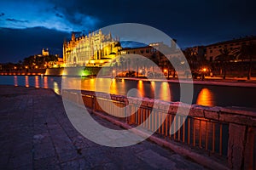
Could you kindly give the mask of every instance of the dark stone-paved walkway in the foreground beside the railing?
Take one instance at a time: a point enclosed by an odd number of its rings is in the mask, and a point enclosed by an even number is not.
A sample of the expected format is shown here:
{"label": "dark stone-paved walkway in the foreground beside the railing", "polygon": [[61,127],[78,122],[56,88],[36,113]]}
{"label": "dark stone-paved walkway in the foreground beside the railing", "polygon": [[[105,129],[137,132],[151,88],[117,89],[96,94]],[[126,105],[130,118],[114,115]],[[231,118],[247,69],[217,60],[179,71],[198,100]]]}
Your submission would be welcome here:
{"label": "dark stone-paved walkway in the foreground beside the railing", "polygon": [[0,86],[0,101],[0,169],[204,168],[149,141],[111,148],[85,139],[50,89]]}

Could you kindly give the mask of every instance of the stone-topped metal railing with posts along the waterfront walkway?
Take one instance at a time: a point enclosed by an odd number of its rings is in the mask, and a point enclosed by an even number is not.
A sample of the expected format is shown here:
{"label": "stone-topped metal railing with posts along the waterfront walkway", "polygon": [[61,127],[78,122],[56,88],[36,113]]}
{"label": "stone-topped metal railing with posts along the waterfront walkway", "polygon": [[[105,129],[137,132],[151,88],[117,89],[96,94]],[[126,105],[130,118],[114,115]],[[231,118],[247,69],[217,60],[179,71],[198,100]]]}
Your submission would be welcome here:
{"label": "stone-topped metal railing with posts along the waterfront walkway", "polygon": [[[84,104],[92,111],[106,113],[102,105],[108,108],[111,116],[119,117],[120,121],[133,125],[143,124],[143,127],[167,139],[189,145],[196,150],[204,150],[207,156],[221,157],[232,169],[256,169],[255,112],[192,105],[189,116],[183,116],[176,113],[177,103],[161,101],[160,105],[169,107],[166,113],[160,107],[152,110],[152,102],[157,100],[135,98],[128,100],[125,96],[103,93],[96,95],[89,91],[83,91],[80,96],[70,90],[63,91],[62,96],[77,103],[80,101],[80,104]],[[113,105],[127,107],[125,112],[119,112]],[[131,116],[126,116],[129,115],[128,112]],[[150,114],[149,121],[143,123]]]}

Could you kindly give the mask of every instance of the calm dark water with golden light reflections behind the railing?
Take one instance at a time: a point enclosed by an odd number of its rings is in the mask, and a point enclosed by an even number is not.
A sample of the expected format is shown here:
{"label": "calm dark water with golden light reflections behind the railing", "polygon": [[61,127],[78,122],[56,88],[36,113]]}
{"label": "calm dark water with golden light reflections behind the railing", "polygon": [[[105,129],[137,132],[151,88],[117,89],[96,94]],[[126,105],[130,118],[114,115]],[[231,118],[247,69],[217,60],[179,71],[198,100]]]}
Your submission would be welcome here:
{"label": "calm dark water with golden light reflections behind the railing", "polygon": [[[110,92],[111,94],[126,95],[129,90],[137,89],[137,95],[163,99],[167,101],[179,101],[179,84],[168,82],[143,82],[115,79],[90,79],[67,77],[40,77],[40,76],[0,76],[0,84],[26,86],[36,88],[52,88],[56,94],[61,94],[61,81],[64,88],[81,86],[84,90]],[[78,83],[79,82],[79,83]],[[170,93],[168,93],[170,89]],[[256,108],[256,88],[225,87],[211,85],[194,85],[193,104],[207,106],[239,106]]]}

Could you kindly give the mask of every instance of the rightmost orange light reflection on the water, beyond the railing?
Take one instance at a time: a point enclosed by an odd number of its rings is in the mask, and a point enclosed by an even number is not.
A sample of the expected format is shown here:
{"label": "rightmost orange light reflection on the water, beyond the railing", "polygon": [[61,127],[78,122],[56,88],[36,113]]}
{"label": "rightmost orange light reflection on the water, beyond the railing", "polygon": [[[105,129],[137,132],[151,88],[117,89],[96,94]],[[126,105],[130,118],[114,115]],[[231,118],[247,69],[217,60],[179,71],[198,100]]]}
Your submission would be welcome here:
{"label": "rightmost orange light reflection on the water, beyond the railing", "polygon": [[201,92],[198,94],[196,104],[197,105],[205,105],[205,106],[213,106],[213,94],[212,91],[208,88],[202,88]]}

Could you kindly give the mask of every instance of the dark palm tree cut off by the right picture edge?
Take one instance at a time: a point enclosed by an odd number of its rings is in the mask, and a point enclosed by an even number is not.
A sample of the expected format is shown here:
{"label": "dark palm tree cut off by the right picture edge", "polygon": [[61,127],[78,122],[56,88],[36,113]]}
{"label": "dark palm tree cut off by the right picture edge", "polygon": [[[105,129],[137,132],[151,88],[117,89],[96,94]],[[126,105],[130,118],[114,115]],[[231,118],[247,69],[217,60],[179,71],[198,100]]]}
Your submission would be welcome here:
{"label": "dark palm tree cut off by the right picture edge", "polygon": [[249,42],[247,45],[242,45],[236,54],[242,62],[244,62],[245,59],[249,59],[247,80],[250,80],[252,75],[253,59],[256,58],[256,43]]}

